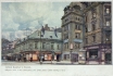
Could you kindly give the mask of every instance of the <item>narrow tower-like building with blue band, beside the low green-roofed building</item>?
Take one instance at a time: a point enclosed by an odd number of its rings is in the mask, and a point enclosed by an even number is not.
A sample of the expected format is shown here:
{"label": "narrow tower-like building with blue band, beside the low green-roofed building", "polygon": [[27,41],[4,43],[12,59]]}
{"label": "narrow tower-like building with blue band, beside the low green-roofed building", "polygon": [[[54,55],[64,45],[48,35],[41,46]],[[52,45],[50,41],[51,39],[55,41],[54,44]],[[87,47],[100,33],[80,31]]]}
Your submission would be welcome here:
{"label": "narrow tower-like building with blue band, beside the low green-roofed building", "polygon": [[[78,51],[83,48],[84,4],[72,2],[64,8],[62,16],[63,59],[78,61]],[[71,49],[72,46],[72,49]]]}

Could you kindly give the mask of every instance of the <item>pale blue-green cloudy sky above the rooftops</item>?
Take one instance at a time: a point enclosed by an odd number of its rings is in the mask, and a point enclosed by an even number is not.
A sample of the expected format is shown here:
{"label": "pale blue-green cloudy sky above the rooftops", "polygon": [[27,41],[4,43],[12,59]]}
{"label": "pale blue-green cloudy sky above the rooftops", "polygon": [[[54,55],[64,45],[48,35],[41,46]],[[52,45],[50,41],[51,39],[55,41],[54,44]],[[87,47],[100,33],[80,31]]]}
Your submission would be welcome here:
{"label": "pale blue-green cloudy sky above the rooftops", "polygon": [[[25,37],[25,29],[41,25],[61,27],[64,8],[71,2],[2,2],[1,33],[9,40]],[[30,33],[29,33],[30,34]]]}

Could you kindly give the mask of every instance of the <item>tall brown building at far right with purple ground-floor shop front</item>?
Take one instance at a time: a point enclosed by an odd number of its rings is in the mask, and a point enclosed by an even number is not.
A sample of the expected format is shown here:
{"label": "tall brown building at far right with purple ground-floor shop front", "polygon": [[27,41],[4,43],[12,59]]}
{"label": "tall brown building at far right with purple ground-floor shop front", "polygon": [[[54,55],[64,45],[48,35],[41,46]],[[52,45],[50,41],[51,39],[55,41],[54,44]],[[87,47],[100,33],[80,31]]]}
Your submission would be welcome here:
{"label": "tall brown building at far right with purple ground-floor shop front", "polygon": [[111,2],[90,2],[85,10],[85,46],[87,63],[111,64]]}

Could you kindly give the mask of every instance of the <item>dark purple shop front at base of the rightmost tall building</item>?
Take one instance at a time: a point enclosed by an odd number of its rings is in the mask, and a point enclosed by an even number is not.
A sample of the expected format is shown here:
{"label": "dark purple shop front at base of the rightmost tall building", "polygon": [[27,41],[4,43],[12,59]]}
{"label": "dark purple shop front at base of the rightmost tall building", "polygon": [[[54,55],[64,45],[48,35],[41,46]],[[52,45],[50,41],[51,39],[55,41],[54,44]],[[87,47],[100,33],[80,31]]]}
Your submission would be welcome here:
{"label": "dark purple shop front at base of the rightmost tall building", "polygon": [[85,47],[87,64],[110,64],[111,63],[111,47],[109,45],[96,45]]}

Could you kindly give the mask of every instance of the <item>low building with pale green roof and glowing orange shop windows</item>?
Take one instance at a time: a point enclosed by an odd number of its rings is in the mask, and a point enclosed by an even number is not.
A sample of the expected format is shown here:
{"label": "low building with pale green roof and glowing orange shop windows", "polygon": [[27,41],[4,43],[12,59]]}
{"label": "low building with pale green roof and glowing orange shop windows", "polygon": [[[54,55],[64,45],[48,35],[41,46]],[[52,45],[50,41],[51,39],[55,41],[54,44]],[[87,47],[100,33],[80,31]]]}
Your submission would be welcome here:
{"label": "low building with pale green roof and glowing orange shop windows", "polygon": [[[46,27],[45,27],[46,28]],[[45,29],[36,30],[26,38],[20,39],[14,48],[13,55],[15,61],[60,61],[62,54],[61,33]]]}

